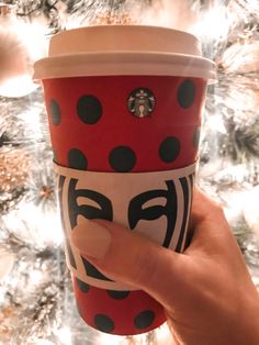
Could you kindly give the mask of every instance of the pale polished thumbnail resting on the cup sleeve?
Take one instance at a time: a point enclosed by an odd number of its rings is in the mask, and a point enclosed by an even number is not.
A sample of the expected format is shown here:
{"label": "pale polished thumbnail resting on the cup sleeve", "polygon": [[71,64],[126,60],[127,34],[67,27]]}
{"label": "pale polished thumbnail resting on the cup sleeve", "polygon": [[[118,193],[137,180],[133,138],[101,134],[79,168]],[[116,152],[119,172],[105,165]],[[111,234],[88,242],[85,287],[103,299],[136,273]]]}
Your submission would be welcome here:
{"label": "pale polished thumbnail resting on the cup sleeve", "polygon": [[72,230],[72,243],[86,256],[103,258],[111,244],[109,230],[97,222],[89,221]]}

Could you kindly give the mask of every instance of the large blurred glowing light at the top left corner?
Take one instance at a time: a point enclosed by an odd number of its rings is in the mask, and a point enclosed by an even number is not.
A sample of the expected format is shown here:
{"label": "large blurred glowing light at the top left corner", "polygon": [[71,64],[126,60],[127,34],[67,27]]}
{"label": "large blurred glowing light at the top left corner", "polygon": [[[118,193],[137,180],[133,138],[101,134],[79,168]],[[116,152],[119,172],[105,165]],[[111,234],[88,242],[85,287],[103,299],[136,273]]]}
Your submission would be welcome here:
{"label": "large blurred glowing light at the top left corner", "polygon": [[40,24],[26,24],[13,12],[13,5],[0,3],[0,96],[19,98],[38,88],[33,63],[46,54],[46,40]]}

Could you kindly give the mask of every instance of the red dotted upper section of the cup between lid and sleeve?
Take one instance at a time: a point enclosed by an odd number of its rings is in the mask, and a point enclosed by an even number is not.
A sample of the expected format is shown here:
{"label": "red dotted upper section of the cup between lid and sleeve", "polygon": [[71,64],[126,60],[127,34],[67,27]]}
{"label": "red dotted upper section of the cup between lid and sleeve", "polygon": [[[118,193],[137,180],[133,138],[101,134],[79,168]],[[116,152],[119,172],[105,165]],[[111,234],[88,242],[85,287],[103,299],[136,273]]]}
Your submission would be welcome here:
{"label": "red dotted upper section of the cup between lid and sleeve", "polygon": [[[112,77],[112,88],[110,77],[106,81],[78,78],[72,90],[69,78],[44,81],[54,84],[46,101],[58,164],[90,171],[140,172],[180,168],[196,159],[198,136],[193,135],[201,122],[204,80],[142,76],[137,82],[136,78]],[[57,93],[59,82],[63,89]],[[138,91],[145,97],[138,97]],[[151,116],[145,121],[132,116],[128,94],[133,103],[139,99],[134,104],[140,112],[151,109]],[[177,159],[161,145],[169,135],[179,141]],[[74,158],[77,154],[79,159]]]}

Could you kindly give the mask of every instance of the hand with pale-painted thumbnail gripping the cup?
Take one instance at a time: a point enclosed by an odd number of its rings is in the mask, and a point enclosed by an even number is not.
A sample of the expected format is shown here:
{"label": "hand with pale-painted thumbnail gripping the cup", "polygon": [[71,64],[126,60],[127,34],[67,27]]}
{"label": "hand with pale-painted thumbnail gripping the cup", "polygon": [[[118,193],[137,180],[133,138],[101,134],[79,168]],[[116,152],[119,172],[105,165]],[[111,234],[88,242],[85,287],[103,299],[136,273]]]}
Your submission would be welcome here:
{"label": "hand with pale-painted thumbnail gripping the cup", "polygon": [[198,190],[191,229],[182,254],[102,220],[72,241],[104,274],[158,300],[177,344],[258,345],[259,294],[222,209]]}

